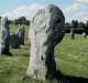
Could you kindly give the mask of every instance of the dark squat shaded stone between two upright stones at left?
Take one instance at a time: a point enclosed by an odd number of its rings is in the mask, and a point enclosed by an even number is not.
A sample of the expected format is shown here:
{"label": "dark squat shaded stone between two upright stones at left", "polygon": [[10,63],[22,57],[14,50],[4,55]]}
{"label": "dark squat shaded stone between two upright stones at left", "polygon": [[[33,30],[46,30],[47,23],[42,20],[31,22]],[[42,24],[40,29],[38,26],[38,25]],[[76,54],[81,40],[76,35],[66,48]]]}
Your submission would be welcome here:
{"label": "dark squat shaded stone between two upright stones at left", "polygon": [[10,46],[13,49],[20,48],[20,39],[18,34],[10,35]]}

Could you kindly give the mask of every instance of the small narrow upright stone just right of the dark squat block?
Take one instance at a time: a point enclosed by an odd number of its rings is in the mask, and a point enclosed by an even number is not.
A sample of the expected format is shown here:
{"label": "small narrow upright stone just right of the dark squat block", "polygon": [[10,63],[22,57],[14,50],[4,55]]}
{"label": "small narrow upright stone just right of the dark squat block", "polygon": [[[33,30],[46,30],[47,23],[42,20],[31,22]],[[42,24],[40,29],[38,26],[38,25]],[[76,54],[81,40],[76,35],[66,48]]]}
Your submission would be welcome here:
{"label": "small narrow upright stone just right of the dark squat block", "polygon": [[18,35],[20,38],[20,44],[24,44],[24,32],[25,32],[24,27],[19,25]]}

